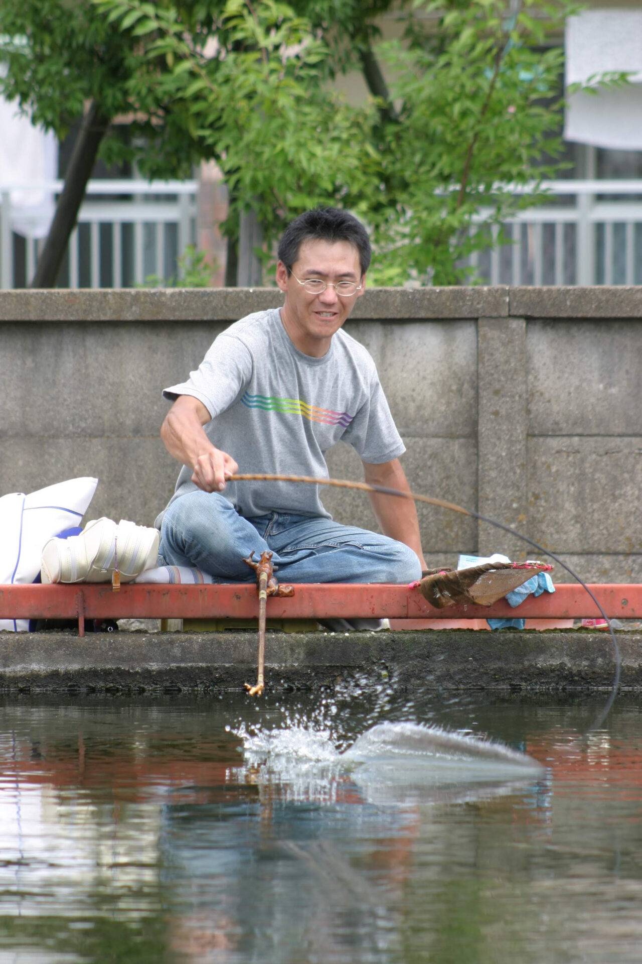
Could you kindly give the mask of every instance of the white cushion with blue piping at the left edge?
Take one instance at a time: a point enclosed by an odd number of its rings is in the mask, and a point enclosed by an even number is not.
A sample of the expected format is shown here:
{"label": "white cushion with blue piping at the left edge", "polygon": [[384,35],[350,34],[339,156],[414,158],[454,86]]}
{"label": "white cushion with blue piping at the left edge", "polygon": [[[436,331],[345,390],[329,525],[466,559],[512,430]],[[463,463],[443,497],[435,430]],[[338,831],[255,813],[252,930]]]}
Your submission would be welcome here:
{"label": "white cushion with blue piping at the left edge", "polygon": [[[52,536],[79,524],[97,485],[98,479],[86,476],[30,495],[12,493],[0,498],[0,583],[34,581],[42,547]],[[26,630],[29,620],[0,620],[0,629]]]}

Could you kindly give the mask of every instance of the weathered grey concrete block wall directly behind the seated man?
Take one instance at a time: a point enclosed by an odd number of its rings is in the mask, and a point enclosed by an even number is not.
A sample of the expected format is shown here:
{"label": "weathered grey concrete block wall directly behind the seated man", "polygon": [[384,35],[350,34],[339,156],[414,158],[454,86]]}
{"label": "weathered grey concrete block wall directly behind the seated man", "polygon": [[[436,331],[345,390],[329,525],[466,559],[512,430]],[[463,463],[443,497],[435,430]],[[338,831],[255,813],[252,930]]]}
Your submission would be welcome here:
{"label": "weathered grey concrete block wall directly behind the seated man", "polygon": [[[97,475],[92,518],[152,522],[178,470],[161,389],[230,322],[280,304],[270,288],[0,292],[0,494]],[[347,331],[377,363],[414,489],[516,527],[587,579],[642,581],[642,288],[372,289]],[[328,464],[361,477],[346,445]],[[375,525],[367,496],[325,504]],[[487,524],[420,515],[434,565],[525,556]]]}

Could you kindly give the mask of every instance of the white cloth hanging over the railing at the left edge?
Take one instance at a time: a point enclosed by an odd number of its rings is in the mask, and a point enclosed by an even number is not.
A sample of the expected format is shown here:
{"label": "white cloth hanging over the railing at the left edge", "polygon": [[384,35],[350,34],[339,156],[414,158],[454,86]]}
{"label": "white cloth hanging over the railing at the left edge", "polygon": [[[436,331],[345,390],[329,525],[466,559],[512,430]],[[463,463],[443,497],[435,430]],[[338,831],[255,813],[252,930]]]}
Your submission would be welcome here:
{"label": "white cloth hanging over the railing at the left edge", "polygon": [[[39,184],[58,177],[58,139],[19,113],[16,101],[0,97],[0,191],[5,184]],[[27,238],[43,238],[54,215],[49,191],[13,190],[12,228]]]}

